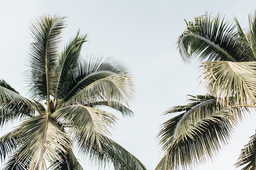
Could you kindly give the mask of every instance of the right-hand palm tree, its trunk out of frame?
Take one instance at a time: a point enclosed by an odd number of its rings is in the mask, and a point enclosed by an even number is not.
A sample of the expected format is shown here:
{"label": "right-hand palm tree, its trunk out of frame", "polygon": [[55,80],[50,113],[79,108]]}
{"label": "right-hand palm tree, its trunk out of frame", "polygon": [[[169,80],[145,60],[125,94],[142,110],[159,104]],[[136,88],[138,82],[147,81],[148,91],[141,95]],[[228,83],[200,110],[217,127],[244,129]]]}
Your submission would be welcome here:
{"label": "right-hand palm tree, its trunk out of frame", "polygon": [[[155,170],[192,168],[218,155],[229,143],[234,127],[256,108],[256,16],[249,15],[245,32],[235,18],[230,24],[218,14],[186,22],[177,46],[185,63],[202,62],[207,95],[190,96],[158,134],[163,157]],[[256,170],[256,135],[241,150],[236,167]]]}

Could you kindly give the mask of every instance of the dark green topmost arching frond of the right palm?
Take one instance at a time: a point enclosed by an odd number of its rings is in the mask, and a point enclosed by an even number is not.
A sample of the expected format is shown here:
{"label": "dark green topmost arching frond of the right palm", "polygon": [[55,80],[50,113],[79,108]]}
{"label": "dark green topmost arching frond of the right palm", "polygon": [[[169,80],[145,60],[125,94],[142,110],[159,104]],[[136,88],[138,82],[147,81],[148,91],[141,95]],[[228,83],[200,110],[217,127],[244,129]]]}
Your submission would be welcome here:
{"label": "dark green topmost arching frond of the right palm", "polygon": [[182,60],[189,63],[192,58],[203,60],[224,60],[232,62],[255,61],[252,49],[241,42],[235,25],[229,24],[218,14],[195,17],[187,23],[187,29],[177,41]]}

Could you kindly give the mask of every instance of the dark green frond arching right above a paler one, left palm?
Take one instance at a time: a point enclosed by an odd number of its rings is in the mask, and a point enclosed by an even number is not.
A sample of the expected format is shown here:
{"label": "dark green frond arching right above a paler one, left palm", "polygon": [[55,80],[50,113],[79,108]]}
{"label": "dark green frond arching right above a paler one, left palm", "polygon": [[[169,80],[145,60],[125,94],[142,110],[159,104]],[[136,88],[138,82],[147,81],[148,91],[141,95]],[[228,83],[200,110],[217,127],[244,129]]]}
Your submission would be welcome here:
{"label": "dark green frond arching right above a paler one, left palm", "polygon": [[[126,66],[124,66],[124,64],[122,64],[119,60],[114,60],[113,58],[103,60],[102,58],[96,59],[95,57],[90,57],[88,62],[82,61],[74,71],[71,81],[73,83],[66,90],[69,93],[66,94],[63,101],[71,99],[74,95],[90,84],[115,75],[119,75],[119,79],[124,80],[124,88],[127,88],[127,91],[130,91],[129,98],[131,98],[131,96],[133,97],[134,93],[133,82],[127,71],[128,69]],[[122,75],[124,75],[124,77],[122,77]],[[104,92],[100,93],[103,93],[103,96],[105,95]],[[92,93],[92,95],[94,95],[94,93]],[[95,97],[98,95],[99,94],[96,93]],[[99,96],[99,98],[101,98],[101,96]],[[103,98],[105,98],[105,96]],[[88,99],[90,99],[90,97],[88,97]]]}

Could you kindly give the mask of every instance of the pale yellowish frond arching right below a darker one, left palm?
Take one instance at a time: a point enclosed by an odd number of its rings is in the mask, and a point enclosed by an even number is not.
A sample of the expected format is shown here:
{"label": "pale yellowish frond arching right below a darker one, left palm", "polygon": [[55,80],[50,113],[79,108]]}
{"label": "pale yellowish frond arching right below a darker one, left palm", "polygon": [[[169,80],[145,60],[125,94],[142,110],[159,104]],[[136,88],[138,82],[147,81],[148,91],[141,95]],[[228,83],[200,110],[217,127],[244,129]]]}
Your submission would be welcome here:
{"label": "pale yellowish frond arching right below a darker one, left palm", "polygon": [[90,84],[81,88],[82,90],[65,104],[75,104],[80,101],[85,103],[108,101],[108,105],[111,106],[111,102],[114,101],[128,106],[134,99],[133,80],[127,74],[114,74],[93,82],[89,80],[83,82]]}

